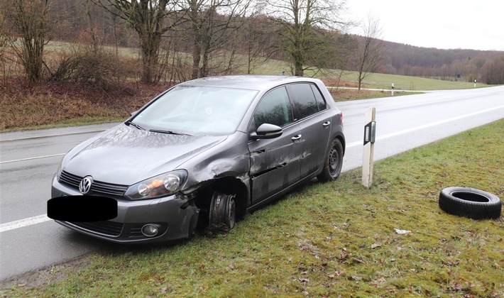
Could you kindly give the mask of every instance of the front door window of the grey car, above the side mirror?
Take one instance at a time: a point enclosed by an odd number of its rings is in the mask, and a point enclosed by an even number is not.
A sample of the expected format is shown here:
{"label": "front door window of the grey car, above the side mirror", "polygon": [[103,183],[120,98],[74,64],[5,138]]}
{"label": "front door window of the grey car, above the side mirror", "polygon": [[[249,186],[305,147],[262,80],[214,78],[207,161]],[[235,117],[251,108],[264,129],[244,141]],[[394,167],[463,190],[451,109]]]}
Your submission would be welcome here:
{"label": "front door window of the grey car, above the side mirror", "polygon": [[292,123],[292,110],[285,87],[268,92],[258,104],[253,119],[256,121],[256,128],[263,123],[275,124],[280,127]]}

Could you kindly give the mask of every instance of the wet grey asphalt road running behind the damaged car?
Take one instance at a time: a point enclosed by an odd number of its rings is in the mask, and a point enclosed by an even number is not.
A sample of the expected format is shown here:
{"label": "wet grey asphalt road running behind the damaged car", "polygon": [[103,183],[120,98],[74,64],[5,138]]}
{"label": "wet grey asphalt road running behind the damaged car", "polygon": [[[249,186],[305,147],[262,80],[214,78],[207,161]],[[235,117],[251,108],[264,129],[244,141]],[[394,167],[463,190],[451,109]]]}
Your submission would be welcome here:
{"label": "wet grey asphalt road running behind the damaged car", "polygon": [[[376,107],[375,160],[380,160],[504,118],[504,86],[346,101],[338,106],[344,112],[346,171],[362,165],[368,107]],[[112,126],[0,134],[0,280],[92,251],[124,250],[45,216],[50,182],[62,155]]]}

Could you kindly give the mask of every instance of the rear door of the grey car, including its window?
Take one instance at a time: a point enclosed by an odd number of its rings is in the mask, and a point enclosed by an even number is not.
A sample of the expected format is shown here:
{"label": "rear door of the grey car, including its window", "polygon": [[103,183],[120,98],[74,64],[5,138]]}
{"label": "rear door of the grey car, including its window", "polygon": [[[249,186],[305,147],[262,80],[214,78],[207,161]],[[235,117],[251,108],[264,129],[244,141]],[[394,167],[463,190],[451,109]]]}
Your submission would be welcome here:
{"label": "rear door of the grey car, including its window", "polygon": [[295,149],[300,150],[297,153],[301,156],[300,178],[304,178],[322,167],[331,136],[331,117],[325,113],[324,97],[314,84],[290,84],[288,92],[300,135]]}

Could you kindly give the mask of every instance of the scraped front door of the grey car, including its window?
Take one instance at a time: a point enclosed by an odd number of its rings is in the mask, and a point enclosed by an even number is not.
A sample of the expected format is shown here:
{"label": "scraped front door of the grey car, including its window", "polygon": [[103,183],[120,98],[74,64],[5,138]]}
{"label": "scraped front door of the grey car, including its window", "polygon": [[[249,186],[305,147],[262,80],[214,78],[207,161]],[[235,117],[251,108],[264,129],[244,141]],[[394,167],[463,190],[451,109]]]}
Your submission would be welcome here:
{"label": "scraped front door of the grey car, including its window", "polygon": [[298,140],[297,125],[293,123],[292,107],[285,87],[271,90],[259,102],[249,131],[263,123],[283,128],[282,136],[251,140],[252,205],[280,192],[300,179],[301,160],[295,154]]}

